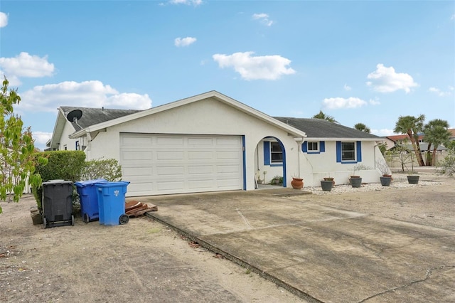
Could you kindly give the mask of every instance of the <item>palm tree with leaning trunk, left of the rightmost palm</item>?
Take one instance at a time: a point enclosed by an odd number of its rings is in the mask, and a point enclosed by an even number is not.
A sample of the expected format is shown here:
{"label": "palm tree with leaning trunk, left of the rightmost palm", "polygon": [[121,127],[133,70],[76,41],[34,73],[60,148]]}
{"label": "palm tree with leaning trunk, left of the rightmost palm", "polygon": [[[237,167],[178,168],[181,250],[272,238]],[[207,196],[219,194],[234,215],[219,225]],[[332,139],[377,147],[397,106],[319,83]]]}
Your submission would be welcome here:
{"label": "palm tree with leaning trunk, left of the rightmost palm", "polygon": [[419,117],[400,116],[395,124],[395,129],[393,129],[397,134],[407,134],[410,137],[419,166],[425,166],[419,146],[419,133],[423,131],[424,120],[425,115],[419,115]]}

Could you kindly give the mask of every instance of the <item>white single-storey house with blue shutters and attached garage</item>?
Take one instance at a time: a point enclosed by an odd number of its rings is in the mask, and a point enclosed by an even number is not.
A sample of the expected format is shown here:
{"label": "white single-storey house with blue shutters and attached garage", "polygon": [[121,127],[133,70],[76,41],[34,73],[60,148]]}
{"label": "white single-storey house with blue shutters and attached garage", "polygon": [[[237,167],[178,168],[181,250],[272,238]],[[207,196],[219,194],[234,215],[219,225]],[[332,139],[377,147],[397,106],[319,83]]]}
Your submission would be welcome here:
{"label": "white single-storey house with blue shutters and attached garage", "polygon": [[325,120],[270,117],[216,91],[112,119],[98,119],[106,109],[77,110],[73,119],[74,109],[60,107],[49,148],[117,159],[131,182],[127,196],[253,190],[257,179],[274,176],[287,187],[291,176],[306,186],[329,175],[346,184],[358,164],[363,181],[379,182],[376,163],[384,160],[380,137]]}

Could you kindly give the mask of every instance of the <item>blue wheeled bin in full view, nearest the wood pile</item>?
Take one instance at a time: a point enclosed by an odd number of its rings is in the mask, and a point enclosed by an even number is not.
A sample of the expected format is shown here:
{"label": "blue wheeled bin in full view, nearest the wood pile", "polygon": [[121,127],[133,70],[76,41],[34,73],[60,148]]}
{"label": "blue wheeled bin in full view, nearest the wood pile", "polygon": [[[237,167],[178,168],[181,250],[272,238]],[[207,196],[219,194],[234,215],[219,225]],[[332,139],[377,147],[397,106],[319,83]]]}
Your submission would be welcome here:
{"label": "blue wheeled bin in full view, nearest the wood pile", "polygon": [[126,224],[129,217],[125,214],[125,193],[128,181],[102,182],[95,184],[98,195],[100,224]]}

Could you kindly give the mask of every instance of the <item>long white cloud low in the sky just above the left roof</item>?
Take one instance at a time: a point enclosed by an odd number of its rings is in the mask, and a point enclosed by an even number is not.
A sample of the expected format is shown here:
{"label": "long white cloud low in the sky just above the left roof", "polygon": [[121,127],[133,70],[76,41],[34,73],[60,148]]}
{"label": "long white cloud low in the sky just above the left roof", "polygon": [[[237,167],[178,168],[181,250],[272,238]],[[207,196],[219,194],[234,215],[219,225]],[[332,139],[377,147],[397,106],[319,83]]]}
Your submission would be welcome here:
{"label": "long white cloud low in the sky just above the left roof", "polygon": [[146,110],[151,107],[149,95],[119,93],[110,85],[97,80],[40,85],[23,92],[21,99],[18,110],[22,112],[55,112],[56,108],[65,105],[130,110]]}

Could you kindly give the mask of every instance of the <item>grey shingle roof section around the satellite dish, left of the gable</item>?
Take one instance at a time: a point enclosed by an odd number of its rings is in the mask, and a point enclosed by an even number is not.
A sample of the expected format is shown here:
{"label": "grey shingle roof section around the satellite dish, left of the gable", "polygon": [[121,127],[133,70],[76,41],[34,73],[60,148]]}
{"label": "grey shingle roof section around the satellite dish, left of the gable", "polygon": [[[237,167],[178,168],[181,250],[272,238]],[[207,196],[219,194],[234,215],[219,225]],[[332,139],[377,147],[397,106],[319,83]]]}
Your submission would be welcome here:
{"label": "grey shingle roof section around the satellite dish, left of the gable", "polygon": [[135,112],[141,112],[141,110],[111,110],[108,108],[90,108],[90,107],[70,107],[62,106],[60,107],[63,110],[63,114],[68,115],[72,110],[81,110],[82,117],[75,122],[71,122],[76,131],[83,129],[85,127],[90,127],[92,125],[106,122],[112,119],[117,119],[119,117],[124,117],[127,115],[134,114]]}

